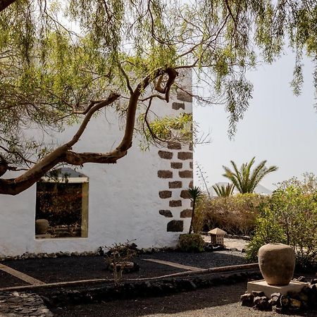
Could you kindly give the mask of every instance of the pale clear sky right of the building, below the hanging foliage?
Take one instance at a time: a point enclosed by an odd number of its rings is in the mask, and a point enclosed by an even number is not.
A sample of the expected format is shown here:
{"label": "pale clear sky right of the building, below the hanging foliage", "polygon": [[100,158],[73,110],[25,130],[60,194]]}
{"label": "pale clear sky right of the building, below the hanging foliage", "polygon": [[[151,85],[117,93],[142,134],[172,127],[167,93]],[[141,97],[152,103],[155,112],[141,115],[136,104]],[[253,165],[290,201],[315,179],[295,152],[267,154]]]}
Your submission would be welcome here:
{"label": "pale clear sky right of the building, below the hanging foliage", "polygon": [[[296,97],[290,82],[294,55],[288,51],[272,65],[259,66],[248,73],[254,85],[253,99],[244,119],[237,124],[234,139],[228,137],[228,113],[223,106],[201,107],[194,104],[194,120],[203,132],[209,132],[211,143],[194,148],[194,161],[206,173],[209,187],[227,179],[223,167],[235,161],[240,167],[256,156],[254,166],[266,160],[266,166],[278,170],[266,175],[261,185],[275,189],[274,184],[302,174],[317,175],[317,111],[314,108],[313,63],[304,59],[304,85]],[[201,185],[194,175],[195,185]]]}

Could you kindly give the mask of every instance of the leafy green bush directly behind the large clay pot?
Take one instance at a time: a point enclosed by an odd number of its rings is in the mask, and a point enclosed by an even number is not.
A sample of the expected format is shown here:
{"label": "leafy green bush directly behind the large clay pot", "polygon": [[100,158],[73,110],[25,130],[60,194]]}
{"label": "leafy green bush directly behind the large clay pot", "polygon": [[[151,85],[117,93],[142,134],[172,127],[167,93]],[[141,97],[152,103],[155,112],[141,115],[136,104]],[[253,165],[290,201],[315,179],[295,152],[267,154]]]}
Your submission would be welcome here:
{"label": "leafy green bush directly behind the large clay pot", "polygon": [[317,192],[306,193],[294,186],[276,190],[262,206],[256,225],[247,248],[250,261],[256,260],[261,245],[281,242],[293,247],[297,266],[316,266]]}

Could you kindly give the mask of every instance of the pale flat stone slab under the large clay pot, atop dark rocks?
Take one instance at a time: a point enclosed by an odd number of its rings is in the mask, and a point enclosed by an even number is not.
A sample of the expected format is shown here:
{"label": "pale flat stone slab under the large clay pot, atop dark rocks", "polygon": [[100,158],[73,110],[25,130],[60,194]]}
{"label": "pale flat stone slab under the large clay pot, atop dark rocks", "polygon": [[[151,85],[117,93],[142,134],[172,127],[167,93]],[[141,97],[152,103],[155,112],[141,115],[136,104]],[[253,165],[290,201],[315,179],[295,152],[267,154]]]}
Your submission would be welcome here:
{"label": "pale flat stone slab under the large clay pot, atop dark rocks", "polygon": [[290,284],[283,286],[268,285],[265,280],[254,280],[248,282],[247,292],[262,291],[266,297],[271,298],[271,294],[273,293],[286,295],[287,292],[300,292],[305,286],[308,286],[308,283],[298,282],[297,280],[291,280]]}

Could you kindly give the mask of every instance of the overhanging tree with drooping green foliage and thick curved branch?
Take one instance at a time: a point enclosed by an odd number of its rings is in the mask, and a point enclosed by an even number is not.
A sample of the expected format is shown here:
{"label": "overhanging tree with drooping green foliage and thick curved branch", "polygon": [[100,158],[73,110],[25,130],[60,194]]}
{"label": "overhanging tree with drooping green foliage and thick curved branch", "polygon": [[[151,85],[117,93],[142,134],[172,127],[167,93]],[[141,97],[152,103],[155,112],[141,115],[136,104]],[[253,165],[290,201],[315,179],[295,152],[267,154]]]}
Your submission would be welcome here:
{"label": "overhanging tree with drooping green foliage and thick curved branch", "polygon": [[[168,127],[151,104],[168,102],[175,89],[192,94],[177,80],[185,70],[209,84],[209,96],[194,95],[200,103],[225,104],[232,135],[249,106],[244,75],[258,63],[256,52],[271,63],[290,39],[297,53],[292,85],[300,92],[302,55],[317,61],[316,7],[313,0],[0,1],[0,194],[23,192],[60,164],[116,163],[135,130],[147,142],[178,138],[174,128],[182,130],[190,116]],[[89,120],[110,106],[125,116],[116,149],[73,151]],[[26,132],[72,123],[80,128],[59,146]],[[6,178],[8,171],[17,174]]]}

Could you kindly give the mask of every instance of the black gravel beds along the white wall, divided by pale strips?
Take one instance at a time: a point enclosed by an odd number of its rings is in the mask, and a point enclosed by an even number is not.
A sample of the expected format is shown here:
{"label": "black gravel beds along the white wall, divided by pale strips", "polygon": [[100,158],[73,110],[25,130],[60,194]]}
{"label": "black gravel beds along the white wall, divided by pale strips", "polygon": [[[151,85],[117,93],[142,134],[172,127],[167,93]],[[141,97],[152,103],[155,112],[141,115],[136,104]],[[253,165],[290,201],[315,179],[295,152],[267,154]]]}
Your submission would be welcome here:
{"label": "black gravel beds along the white wall, divided by pale strips", "polygon": [[[127,273],[124,278],[150,278],[186,271],[173,266],[144,261],[144,259],[160,259],[197,268],[230,266],[245,262],[241,252],[217,251],[187,254],[178,251],[160,251],[137,256],[133,261],[139,265],[139,271]],[[3,263],[46,283],[113,278],[112,273],[105,269],[106,263],[103,256],[63,256],[55,259],[10,260]],[[25,283],[23,284],[21,281],[13,285],[7,279],[0,279],[0,287],[15,285],[25,285]]]}

